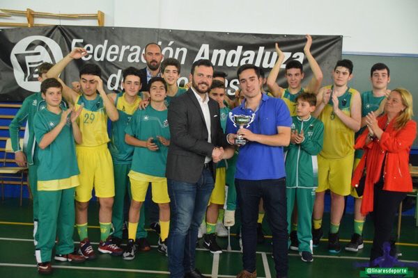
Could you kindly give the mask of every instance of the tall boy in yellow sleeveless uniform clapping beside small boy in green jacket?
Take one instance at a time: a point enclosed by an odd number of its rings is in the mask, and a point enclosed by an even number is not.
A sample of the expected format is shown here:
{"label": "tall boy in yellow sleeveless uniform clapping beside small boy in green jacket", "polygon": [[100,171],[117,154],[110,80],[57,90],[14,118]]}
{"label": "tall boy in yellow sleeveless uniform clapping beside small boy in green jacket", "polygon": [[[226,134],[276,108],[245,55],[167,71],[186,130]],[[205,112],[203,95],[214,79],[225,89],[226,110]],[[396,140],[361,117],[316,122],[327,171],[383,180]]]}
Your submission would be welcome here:
{"label": "tall boy in yellow sleeveless uniform clapping beside small boy in green jacket", "polygon": [[354,133],[360,129],[362,100],[359,92],[348,87],[353,78],[353,63],[339,60],[332,74],[333,85],[320,88],[314,117],[324,124],[323,150],[318,156],[318,188],[314,204],[312,240],[318,246],[323,236],[321,228],[325,190],[331,190],[331,225],[328,250],[341,251],[339,224],[344,211],[344,197],[350,195],[354,161]]}

